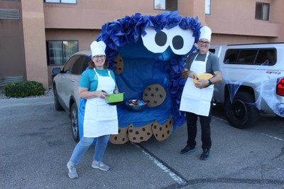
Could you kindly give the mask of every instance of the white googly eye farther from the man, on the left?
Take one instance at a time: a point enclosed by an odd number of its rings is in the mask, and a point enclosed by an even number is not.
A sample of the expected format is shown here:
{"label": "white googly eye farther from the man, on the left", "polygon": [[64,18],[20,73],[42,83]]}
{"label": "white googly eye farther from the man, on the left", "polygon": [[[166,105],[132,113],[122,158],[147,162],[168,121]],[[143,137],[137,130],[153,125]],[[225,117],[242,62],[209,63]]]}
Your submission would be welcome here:
{"label": "white googly eye farther from the man, on the left", "polygon": [[146,28],[146,36],[142,36],[144,46],[153,53],[163,53],[168,48],[168,33],[169,30],[163,28],[160,33],[157,33],[154,28]]}

